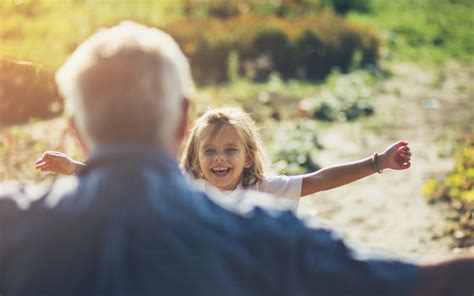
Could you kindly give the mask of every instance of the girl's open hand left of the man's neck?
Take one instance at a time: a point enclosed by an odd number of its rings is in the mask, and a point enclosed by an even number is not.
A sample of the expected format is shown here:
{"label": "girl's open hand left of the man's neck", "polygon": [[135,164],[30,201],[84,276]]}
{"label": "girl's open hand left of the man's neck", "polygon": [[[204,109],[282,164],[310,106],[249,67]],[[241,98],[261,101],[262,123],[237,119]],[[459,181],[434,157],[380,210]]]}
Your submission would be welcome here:
{"label": "girl's open hand left of the man's neck", "polygon": [[53,172],[62,175],[72,175],[79,162],[59,151],[46,151],[36,161],[35,167],[42,172]]}

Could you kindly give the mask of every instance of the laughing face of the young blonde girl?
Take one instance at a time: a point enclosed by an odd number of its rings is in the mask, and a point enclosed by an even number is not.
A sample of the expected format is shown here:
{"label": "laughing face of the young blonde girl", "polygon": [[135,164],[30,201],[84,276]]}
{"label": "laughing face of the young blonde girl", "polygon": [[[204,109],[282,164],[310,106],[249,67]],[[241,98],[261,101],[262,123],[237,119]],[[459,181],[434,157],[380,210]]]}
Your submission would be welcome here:
{"label": "laughing face of the young blonde girl", "polygon": [[234,190],[251,165],[244,142],[231,126],[217,132],[213,126],[205,128],[198,153],[202,178],[220,190]]}

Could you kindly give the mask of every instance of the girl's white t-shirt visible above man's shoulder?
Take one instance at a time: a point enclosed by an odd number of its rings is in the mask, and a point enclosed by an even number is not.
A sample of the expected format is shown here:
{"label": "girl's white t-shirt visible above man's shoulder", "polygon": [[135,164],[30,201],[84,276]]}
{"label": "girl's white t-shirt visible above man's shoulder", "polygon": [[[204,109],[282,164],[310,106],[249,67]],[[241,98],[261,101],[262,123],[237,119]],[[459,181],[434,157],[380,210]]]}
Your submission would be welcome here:
{"label": "girl's white t-shirt visible above man's shoulder", "polygon": [[268,193],[277,198],[285,199],[294,207],[298,206],[301,197],[301,187],[303,185],[303,177],[300,176],[273,176],[258,182],[257,184],[244,188],[240,183],[233,191],[221,191],[212,186],[203,179],[192,179],[191,183],[200,191],[208,195],[226,195],[228,197],[238,197],[241,191],[258,191]]}

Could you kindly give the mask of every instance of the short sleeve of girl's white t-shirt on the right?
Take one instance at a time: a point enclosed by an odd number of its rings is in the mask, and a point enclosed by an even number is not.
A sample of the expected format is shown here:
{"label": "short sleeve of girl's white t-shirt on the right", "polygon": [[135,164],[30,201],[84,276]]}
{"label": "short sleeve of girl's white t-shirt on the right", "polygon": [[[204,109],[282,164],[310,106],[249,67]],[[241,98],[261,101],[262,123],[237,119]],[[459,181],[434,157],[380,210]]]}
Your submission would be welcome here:
{"label": "short sleeve of girl's white t-shirt on the right", "polygon": [[275,176],[260,182],[258,191],[298,202],[302,184],[302,176]]}

